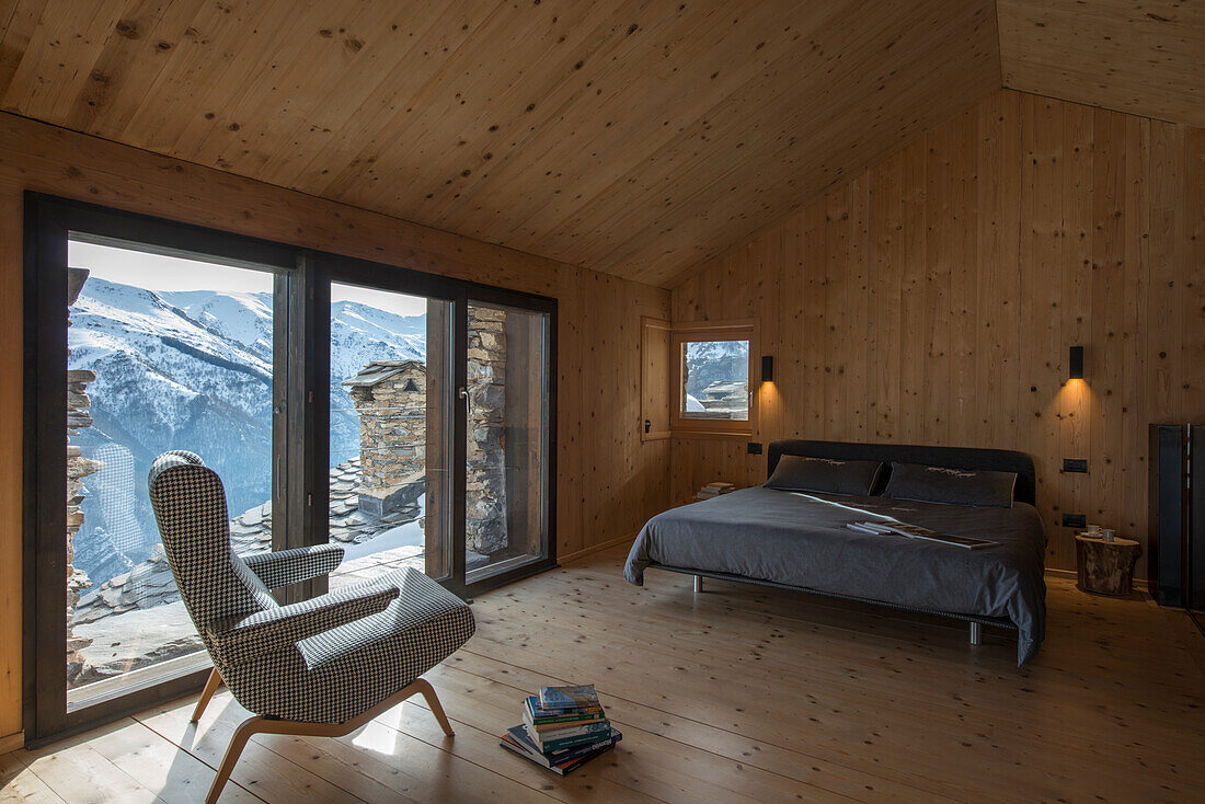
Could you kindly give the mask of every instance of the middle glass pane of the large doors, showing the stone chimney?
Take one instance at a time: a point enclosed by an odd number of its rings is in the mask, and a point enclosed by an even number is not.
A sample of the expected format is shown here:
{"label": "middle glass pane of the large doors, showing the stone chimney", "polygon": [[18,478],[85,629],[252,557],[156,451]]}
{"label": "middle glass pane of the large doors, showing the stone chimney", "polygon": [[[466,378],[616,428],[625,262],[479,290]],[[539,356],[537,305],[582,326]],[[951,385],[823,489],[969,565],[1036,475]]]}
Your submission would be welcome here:
{"label": "middle glass pane of the large doors, showing the stone chimney", "polygon": [[330,283],[330,588],[451,574],[449,301]]}

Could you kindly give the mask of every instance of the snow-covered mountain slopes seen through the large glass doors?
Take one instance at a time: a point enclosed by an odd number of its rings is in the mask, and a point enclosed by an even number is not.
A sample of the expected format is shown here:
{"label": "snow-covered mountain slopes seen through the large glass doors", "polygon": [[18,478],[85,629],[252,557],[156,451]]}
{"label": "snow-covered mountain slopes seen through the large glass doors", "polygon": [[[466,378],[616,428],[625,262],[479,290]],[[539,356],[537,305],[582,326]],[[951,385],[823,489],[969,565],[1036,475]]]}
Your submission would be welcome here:
{"label": "snow-covered mountain slopes seen through the large glass doors", "polygon": [[[100,583],[158,542],[151,460],[198,452],[222,476],[231,516],[271,498],[272,297],[151,291],[90,277],[71,307],[69,369],[90,369],[93,426],[71,436],[105,464],[84,479],[76,565]],[[331,305],[331,463],[359,451],[340,382],[372,359],[424,359],[425,316]]]}

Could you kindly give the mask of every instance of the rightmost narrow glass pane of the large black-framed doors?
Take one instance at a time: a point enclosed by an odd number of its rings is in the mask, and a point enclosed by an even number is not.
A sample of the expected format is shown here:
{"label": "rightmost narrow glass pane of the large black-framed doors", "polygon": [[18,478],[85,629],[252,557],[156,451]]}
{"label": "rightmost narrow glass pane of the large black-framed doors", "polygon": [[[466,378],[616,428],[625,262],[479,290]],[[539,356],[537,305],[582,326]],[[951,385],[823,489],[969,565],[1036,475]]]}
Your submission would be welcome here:
{"label": "rightmost narrow glass pane of the large black-framed doors", "polygon": [[465,580],[548,556],[548,315],[469,301]]}

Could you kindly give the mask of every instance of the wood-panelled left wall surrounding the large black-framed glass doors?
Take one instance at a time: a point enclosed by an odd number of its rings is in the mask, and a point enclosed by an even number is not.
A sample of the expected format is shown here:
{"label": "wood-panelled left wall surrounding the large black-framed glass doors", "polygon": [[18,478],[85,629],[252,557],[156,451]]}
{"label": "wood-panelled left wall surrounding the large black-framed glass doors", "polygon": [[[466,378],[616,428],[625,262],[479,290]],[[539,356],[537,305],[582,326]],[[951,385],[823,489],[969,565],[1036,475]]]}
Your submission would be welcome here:
{"label": "wood-panelled left wall surrounding the large black-framed glass doors", "polygon": [[556,297],[559,554],[666,507],[669,442],[641,444],[634,422],[640,318],[665,318],[668,291],[0,113],[0,743],[20,728],[27,189]]}

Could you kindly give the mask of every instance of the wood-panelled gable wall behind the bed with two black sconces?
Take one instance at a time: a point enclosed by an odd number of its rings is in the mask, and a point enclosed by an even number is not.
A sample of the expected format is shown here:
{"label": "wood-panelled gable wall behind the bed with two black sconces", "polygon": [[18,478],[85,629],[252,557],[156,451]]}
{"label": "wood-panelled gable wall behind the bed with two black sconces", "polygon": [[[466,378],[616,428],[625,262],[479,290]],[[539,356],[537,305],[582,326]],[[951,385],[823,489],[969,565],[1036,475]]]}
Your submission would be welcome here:
{"label": "wood-panelled gable wall behind the bed with two black sconces", "polygon": [[[674,291],[675,322],[748,316],[756,440],[1021,450],[1048,565],[1062,512],[1145,542],[1147,423],[1205,423],[1205,130],[1000,90]],[[765,477],[743,442],[671,459],[676,501]]]}

